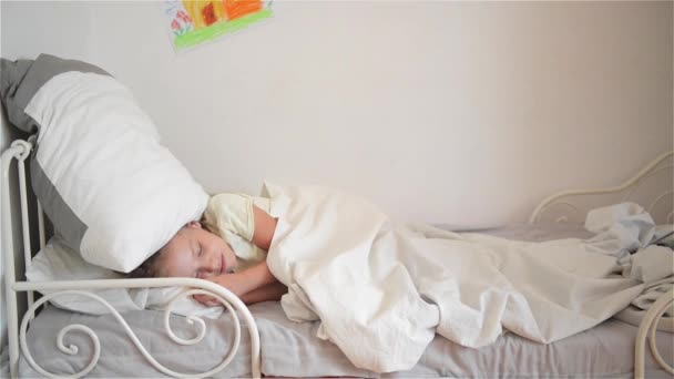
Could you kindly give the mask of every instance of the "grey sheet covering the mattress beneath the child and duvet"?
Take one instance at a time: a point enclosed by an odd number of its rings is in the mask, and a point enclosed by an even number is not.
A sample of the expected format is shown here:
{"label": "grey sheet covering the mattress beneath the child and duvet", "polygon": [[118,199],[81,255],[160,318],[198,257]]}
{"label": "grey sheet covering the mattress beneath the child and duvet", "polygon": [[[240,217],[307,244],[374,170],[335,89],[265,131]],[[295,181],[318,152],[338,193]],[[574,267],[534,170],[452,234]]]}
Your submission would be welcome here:
{"label": "grey sheet covering the mattress beneath the child and duvet", "polygon": [[[545,240],[566,237],[588,237],[575,226],[511,226],[508,228],[480,231],[504,238],[521,240]],[[470,349],[437,336],[417,366],[409,371],[377,375],[355,368],[339,349],[316,337],[316,322],[289,321],[278,303],[263,303],[251,307],[257,321],[262,345],[263,373],[275,377],[472,377],[472,378],[616,378],[632,377],[634,338],[637,328],[610,319],[605,322],[550,345],[532,342],[512,334],[488,347]],[[206,319],[206,337],[192,347],[175,345],[166,336],[163,313],[143,310],[123,315],[130,327],[150,354],[170,369],[195,373],[207,371],[218,365],[232,348],[233,325],[229,315],[217,320]],[[188,338],[195,329],[180,316],[172,316],[176,335]],[[92,344],[81,332],[71,332],[65,345],[74,344],[80,354],[71,357],[57,349],[59,330],[70,324],[91,327],[101,339],[101,359],[86,375],[88,378],[157,378],[165,377],[140,355],[112,316],[89,316],[64,311],[55,307],[44,309],[31,324],[27,339],[34,359],[58,375],[80,370],[88,362]],[[672,334],[658,331],[657,345],[661,355],[674,360]],[[242,342],[234,360],[215,378],[251,376],[251,344],[242,322]],[[21,378],[39,377],[25,359],[20,361]],[[672,378],[657,369],[650,354],[646,359],[646,376]]]}

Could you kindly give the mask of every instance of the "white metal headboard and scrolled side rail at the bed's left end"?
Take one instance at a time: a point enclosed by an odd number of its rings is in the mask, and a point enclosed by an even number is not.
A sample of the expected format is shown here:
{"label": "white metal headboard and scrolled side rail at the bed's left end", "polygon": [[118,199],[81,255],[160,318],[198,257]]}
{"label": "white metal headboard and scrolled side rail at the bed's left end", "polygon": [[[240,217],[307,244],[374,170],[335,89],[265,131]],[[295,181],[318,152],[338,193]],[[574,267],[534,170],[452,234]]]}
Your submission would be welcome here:
{"label": "white metal headboard and scrolled side rail at the bed's left end", "polygon": [[[202,280],[202,279],[193,279],[193,278],[149,278],[149,279],[102,279],[102,280],[70,280],[70,281],[23,281],[17,280],[14,273],[14,246],[12,238],[12,209],[11,209],[11,201],[9,194],[9,173],[10,165],[13,160],[17,160],[17,170],[19,177],[19,195],[20,195],[20,208],[21,208],[21,224],[22,224],[22,235],[23,235],[23,262],[25,265],[30,265],[32,258],[32,249],[30,244],[30,228],[29,228],[29,216],[28,216],[28,196],[27,196],[27,183],[25,183],[25,168],[24,161],[29,156],[30,151],[32,148],[32,141],[14,141],[12,145],[2,153],[2,181],[0,185],[0,208],[2,209],[2,234],[0,235],[0,240],[2,242],[2,252],[3,252],[3,265],[4,277],[6,277],[6,296],[7,296],[7,315],[8,315],[8,339],[9,339],[9,366],[10,373],[12,378],[17,378],[18,375],[18,365],[19,365],[19,345],[21,347],[21,351],[25,357],[29,365],[38,372],[45,377],[63,377],[61,375],[57,375],[53,372],[48,372],[42,369],[33,359],[28,349],[28,345],[25,342],[25,331],[28,329],[28,325],[30,320],[33,318],[35,310],[42,306],[45,301],[53,297],[58,296],[67,296],[67,295],[79,295],[90,297],[103,306],[105,306],[114,318],[121,324],[129,338],[132,339],[133,344],[137,347],[139,351],[147,359],[147,361],[156,368],[159,371],[176,377],[176,378],[203,378],[213,376],[214,373],[221,371],[225,366],[227,366],[234,355],[237,351],[238,344],[241,341],[241,325],[238,317],[242,317],[248,327],[248,331],[251,335],[251,347],[252,347],[252,361],[251,368],[254,378],[261,377],[261,355],[259,355],[259,335],[257,331],[257,326],[255,325],[255,320],[251,315],[249,310],[246,306],[238,299],[235,295],[229,293],[222,286],[218,286],[214,283]],[[40,246],[44,247],[45,237],[44,237],[44,223],[41,207],[38,203],[38,224],[39,224],[39,233],[40,233]],[[191,289],[185,289],[181,294],[178,294],[175,298],[173,298],[168,305],[168,308],[164,314],[164,326],[166,329],[166,334],[168,337],[176,344],[181,345],[194,345],[198,344],[206,334],[206,325],[203,319],[195,316],[188,316],[186,318],[187,322],[196,324],[198,327],[197,337],[192,339],[182,339],[175,336],[170,326],[170,315],[171,309],[175,301],[184,296],[191,296],[194,294],[206,294],[210,296],[214,296],[218,299],[227,309],[231,317],[234,320],[235,326],[235,335],[234,342],[232,345],[232,349],[228,355],[223,359],[223,361],[214,367],[213,369],[201,372],[201,373],[184,373],[184,372],[175,372],[160,362],[157,362],[142,346],[133,330],[129,327],[123,317],[103,298],[98,295],[90,293],[90,290],[103,289],[103,288],[154,288],[154,287],[171,287],[171,286],[183,286]],[[35,290],[49,290],[48,295],[44,295],[39,300],[33,301],[33,291]],[[19,309],[18,309],[18,293],[24,291],[27,293],[28,299],[28,311],[23,315],[21,320],[21,328],[19,332],[18,319],[19,319]],[[238,311],[238,316],[237,313]],[[76,346],[63,345],[63,337],[71,330],[80,330],[86,334],[93,345],[94,352],[93,357],[91,357],[89,363],[79,372],[72,373],[69,378],[80,378],[89,373],[96,365],[100,354],[101,346],[98,336],[95,332],[86,326],[83,325],[69,325],[61,329],[59,335],[57,336],[57,346],[58,348],[67,354],[67,355],[76,355],[79,349]]]}

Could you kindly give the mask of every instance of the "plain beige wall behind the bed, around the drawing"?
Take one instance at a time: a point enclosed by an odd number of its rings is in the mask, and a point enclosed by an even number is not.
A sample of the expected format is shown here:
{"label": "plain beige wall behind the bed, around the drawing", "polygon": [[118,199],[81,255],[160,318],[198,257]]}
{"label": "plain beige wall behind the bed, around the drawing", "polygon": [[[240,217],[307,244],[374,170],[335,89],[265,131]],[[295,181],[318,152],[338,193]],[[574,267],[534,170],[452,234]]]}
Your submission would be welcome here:
{"label": "plain beige wall behind the bed, around the drawing", "polygon": [[667,1],[277,1],[180,54],[161,2],[1,7],[3,57],[104,66],[212,192],[312,182],[494,225],[672,148]]}

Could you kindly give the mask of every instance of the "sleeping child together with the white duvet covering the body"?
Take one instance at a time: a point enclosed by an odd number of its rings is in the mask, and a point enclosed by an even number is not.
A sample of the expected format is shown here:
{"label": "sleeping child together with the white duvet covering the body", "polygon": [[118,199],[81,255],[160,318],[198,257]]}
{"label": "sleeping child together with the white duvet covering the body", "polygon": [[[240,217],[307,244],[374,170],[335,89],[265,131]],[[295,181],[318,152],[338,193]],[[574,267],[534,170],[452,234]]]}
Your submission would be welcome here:
{"label": "sleeping child together with the white duvet covering the body", "polygon": [[[375,372],[410,369],[436,335],[471,348],[503,330],[553,342],[674,276],[672,250],[650,245],[655,223],[633,203],[591,211],[592,238],[531,243],[399,225],[319,186],[267,183],[263,194],[214,196],[202,222],[136,274],[204,278],[247,304],[283,296],[289,320],[319,321],[319,338]],[[656,270],[644,275],[646,266]]]}

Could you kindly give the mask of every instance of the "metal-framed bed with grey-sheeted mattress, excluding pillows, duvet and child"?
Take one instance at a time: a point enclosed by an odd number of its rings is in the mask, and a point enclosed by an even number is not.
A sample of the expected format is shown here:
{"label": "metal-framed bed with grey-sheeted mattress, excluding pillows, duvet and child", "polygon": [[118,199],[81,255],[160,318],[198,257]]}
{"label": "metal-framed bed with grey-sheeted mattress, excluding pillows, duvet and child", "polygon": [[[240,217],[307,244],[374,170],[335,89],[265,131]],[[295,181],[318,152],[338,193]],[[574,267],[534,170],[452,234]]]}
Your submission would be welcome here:
{"label": "metal-framed bed with grey-sheeted mattress, excluding pillows, duvet and child", "polygon": [[[12,252],[22,244],[24,255],[16,262],[3,254],[4,267],[30,265],[29,195],[23,162],[31,143],[17,141],[2,154],[2,247]],[[19,212],[11,209],[9,172],[17,161],[20,184]],[[555,194],[532,212],[529,224],[481,231],[521,240],[588,237],[583,215],[594,205],[665,193],[640,201],[656,217],[672,223],[672,153],[654,160],[623,184],[590,191]],[[661,176],[664,176],[663,180]],[[667,177],[668,176],[668,177]],[[590,198],[590,199],[588,199]],[[34,202],[34,199],[33,199]],[[38,206],[38,213],[40,208]],[[22,238],[13,240],[12,219],[22,219]],[[40,245],[45,244],[43,217],[38,219]],[[666,361],[674,357],[672,335],[654,326],[673,295],[662,296],[636,327],[619,319],[542,345],[506,334],[491,346],[470,349],[437,336],[412,370],[376,373],[353,366],[339,349],[316,338],[316,322],[292,322],[278,303],[246,308],[223,288],[198,279],[123,279],[63,283],[29,283],[6,270],[10,368],[12,377],[662,377],[671,378]],[[58,294],[33,299],[35,290],[51,288],[86,295],[88,289],[113,286],[187,286],[222,297],[229,308],[218,319],[185,318],[168,311],[137,310],[122,315],[92,316],[50,306]],[[18,313],[17,298],[28,296],[29,310]],[[38,309],[41,309],[38,311]],[[236,309],[234,311],[234,309]],[[237,317],[229,317],[232,315]],[[19,326],[19,322],[21,325]],[[651,354],[646,352],[649,341]],[[187,346],[183,346],[187,345]]]}

